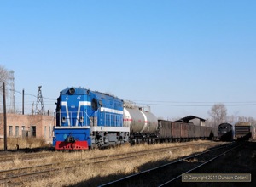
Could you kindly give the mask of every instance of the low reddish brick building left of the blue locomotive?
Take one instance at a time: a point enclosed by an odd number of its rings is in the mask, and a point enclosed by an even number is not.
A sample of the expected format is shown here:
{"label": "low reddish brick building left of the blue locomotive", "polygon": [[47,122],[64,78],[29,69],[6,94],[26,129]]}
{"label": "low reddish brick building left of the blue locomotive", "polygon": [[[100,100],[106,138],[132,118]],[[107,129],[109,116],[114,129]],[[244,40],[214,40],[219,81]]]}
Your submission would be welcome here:
{"label": "low reddish brick building left of the blue locomotive", "polygon": [[[7,114],[7,137],[36,137],[52,142],[54,116]],[[3,138],[3,113],[0,114],[0,138]]]}

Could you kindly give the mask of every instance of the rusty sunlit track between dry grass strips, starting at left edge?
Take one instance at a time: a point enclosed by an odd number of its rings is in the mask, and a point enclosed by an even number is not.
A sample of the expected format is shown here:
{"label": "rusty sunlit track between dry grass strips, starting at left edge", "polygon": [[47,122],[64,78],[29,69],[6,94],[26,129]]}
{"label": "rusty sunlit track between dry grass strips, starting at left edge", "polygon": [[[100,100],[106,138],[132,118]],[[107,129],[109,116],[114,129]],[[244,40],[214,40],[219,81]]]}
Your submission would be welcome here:
{"label": "rusty sunlit track between dry grass strips, starting at left edge", "polygon": [[72,172],[76,167],[86,167],[91,164],[102,164],[104,162],[118,161],[118,160],[129,160],[139,156],[148,156],[148,154],[160,154],[161,152],[170,150],[180,150],[188,146],[205,146],[210,147],[209,143],[200,144],[186,144],[179,146],[170,146],[166,148],[158,148],[152,150],[142,150],[139,152],[129,152],[125,154],[115,154],[109,156],[97,156],[85,159],[77,159],[73,161],[61,161],[58,163],[49,163],[44,165],[38,165],[33,167],[20,167],[9,170],[0,171],[0,183],[2,184],[15,184],[19,183],[20,178],[26,180],[26,178],[37,178],[42,175],[49,176],[60,173],[63,170]]}

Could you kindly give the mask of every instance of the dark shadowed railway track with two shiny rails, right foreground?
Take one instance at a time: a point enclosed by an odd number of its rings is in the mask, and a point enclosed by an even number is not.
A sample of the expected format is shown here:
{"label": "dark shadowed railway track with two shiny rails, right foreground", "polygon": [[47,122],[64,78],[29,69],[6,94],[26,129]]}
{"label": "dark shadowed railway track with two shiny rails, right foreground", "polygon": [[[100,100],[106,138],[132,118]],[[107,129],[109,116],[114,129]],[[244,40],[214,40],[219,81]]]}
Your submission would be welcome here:
{"label": "dark shadowed railway track with two shiny rails, right foreground", "polygon": [[154,167],[141,173],[135,173],[125,178],[101,186],[171,186],[172,182],[181,178],[183,173],[194,171],[207,163],[218,159],[241,144],[225,144],[212,150],[207,150],[192,156],[185,156],[176,161],[171,161],[160,167]]}

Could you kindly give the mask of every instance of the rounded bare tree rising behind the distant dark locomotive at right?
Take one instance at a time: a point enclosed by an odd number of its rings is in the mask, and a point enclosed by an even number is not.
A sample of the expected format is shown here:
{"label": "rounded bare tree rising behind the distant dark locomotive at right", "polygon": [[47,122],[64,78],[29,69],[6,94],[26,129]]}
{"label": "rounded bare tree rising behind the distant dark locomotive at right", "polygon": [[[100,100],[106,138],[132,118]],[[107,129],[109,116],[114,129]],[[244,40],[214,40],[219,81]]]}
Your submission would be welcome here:
{"label": "rounded bare tree rising behind the distant dark locomotive at right", "polygon": [[227,109],[224,104],[218,103],[212,106],[211,111],[208,112],[212,117],[213,125],[218,127],[222,122],[226,122]]}

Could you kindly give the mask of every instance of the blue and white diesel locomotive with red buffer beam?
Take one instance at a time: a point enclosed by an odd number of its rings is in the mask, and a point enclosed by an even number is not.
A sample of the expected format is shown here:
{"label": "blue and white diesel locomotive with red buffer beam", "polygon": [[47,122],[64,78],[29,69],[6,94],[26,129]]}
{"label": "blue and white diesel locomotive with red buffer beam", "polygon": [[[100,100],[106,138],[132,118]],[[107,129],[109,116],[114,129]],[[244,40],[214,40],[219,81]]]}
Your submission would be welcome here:
{"label": "blue and white diesel locomotive with red buffer beam", "polygon": [[67,88],[61,91],[56,105],[56,150],[86,150],[128,141],[121,99],[89,89]]}

